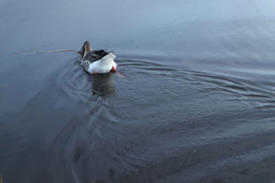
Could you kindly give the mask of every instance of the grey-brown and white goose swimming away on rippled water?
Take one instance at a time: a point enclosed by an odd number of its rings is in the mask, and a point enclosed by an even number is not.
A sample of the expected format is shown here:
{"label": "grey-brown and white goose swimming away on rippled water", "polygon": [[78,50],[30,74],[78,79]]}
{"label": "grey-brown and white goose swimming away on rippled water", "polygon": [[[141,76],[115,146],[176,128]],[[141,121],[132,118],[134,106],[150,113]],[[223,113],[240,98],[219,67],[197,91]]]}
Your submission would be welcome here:
{"label": "grey-brown and white goose swimming away on rippled water", "polygon": [[114,61],[115,55],[104,49],[92,50],[91,43],[87,40],[80,49],[80,55],[82,56],[80,64],[88,73],[96,75],[110,71],[117,72],[118,64]]}

